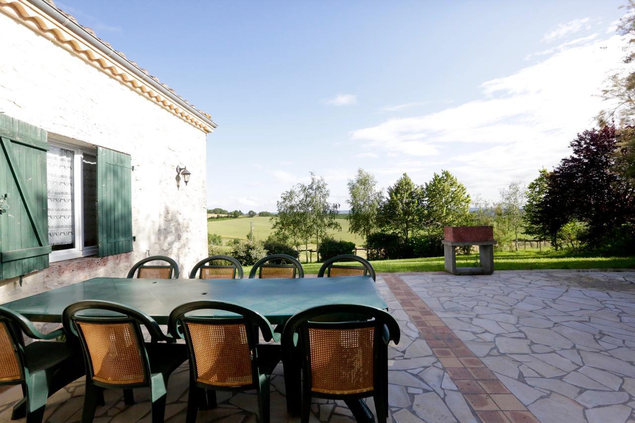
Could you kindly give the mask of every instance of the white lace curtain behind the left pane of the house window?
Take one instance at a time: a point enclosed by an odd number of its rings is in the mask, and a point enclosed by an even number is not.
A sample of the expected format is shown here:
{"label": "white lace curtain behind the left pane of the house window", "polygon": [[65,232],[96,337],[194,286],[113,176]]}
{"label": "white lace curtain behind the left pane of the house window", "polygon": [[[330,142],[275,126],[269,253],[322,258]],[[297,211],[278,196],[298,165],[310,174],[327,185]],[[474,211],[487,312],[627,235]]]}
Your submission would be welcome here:
{"label": "white lace curtain behind the left pane of the house window", "polygon": [[48,178],[48,240],[50,245],[73,248],[74,198],[73,158],[74,152],[50,146],[46,154]]}

